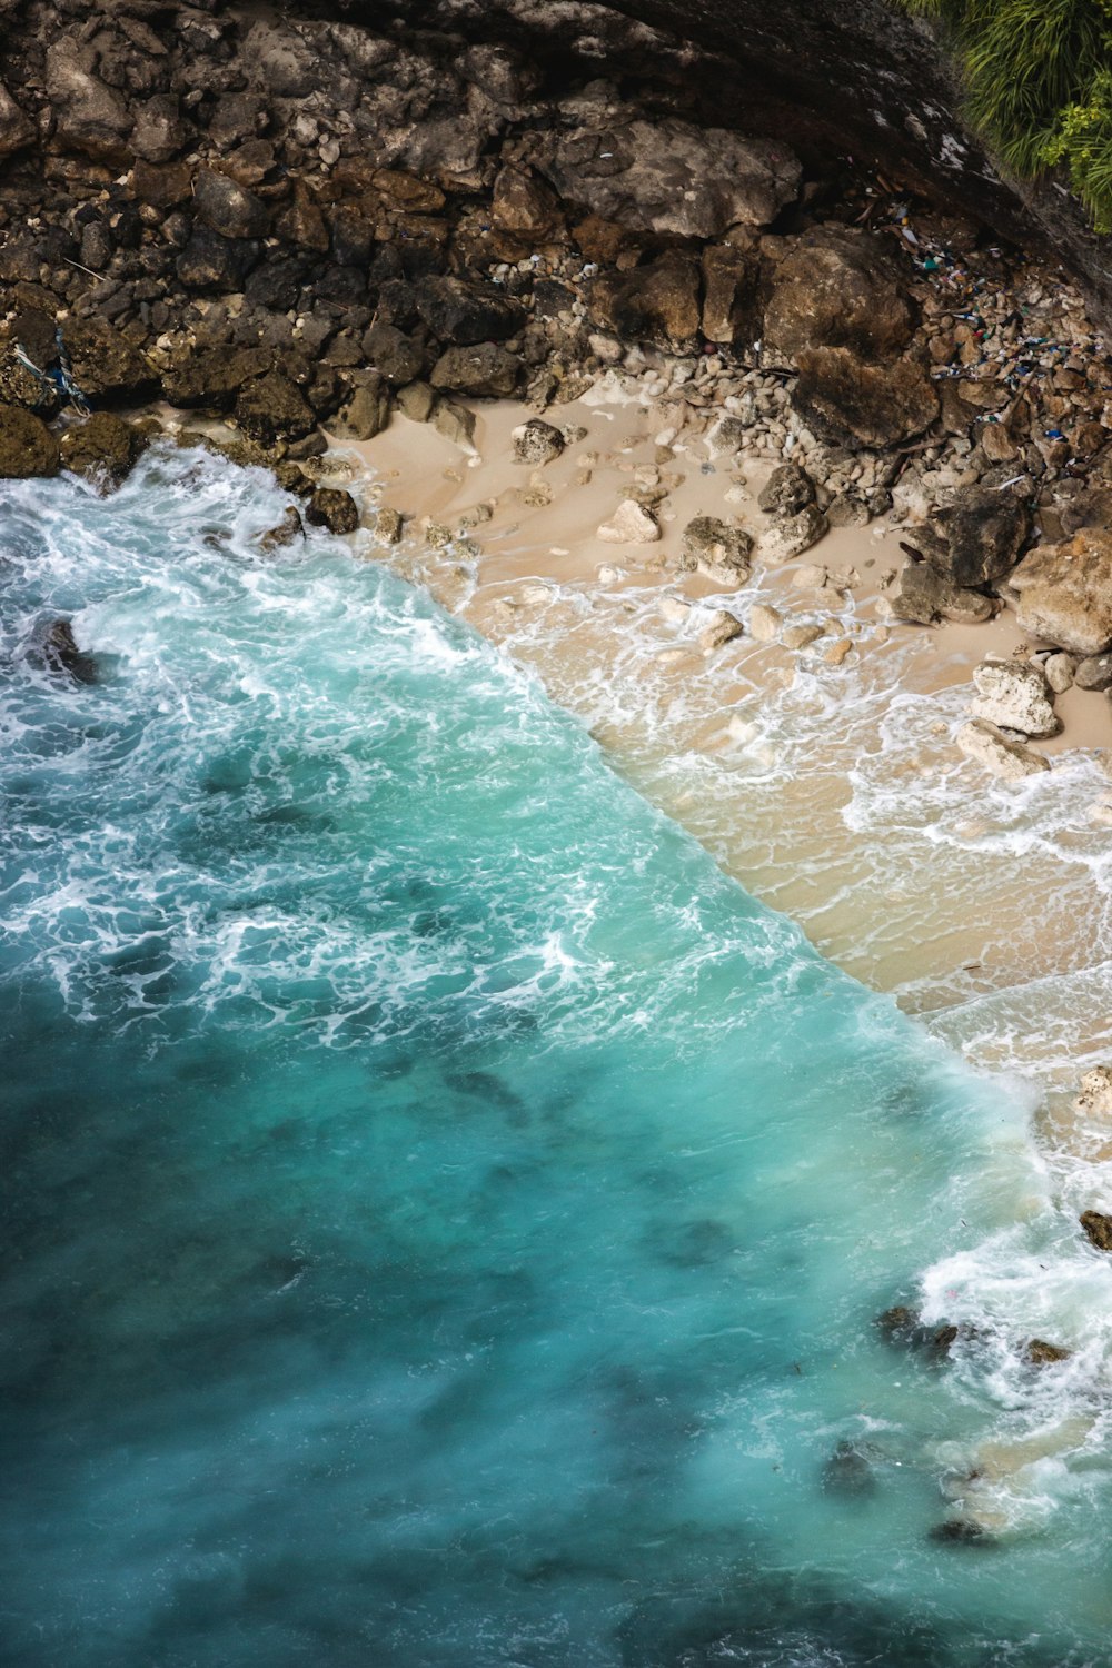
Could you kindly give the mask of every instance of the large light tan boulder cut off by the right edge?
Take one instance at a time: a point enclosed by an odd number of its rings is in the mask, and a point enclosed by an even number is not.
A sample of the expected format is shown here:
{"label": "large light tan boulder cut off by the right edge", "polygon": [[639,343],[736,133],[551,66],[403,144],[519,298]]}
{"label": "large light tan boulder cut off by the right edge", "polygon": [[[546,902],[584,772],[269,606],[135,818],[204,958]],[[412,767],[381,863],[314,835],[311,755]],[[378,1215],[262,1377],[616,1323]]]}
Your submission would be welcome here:
{"label": "large light tan boulder cut off by the right edge", "polygon": [[1010,579],[1024,631],[1072,654],[1112,647],[1112,532],[1084,527],[1067,544],[1040,544]]}

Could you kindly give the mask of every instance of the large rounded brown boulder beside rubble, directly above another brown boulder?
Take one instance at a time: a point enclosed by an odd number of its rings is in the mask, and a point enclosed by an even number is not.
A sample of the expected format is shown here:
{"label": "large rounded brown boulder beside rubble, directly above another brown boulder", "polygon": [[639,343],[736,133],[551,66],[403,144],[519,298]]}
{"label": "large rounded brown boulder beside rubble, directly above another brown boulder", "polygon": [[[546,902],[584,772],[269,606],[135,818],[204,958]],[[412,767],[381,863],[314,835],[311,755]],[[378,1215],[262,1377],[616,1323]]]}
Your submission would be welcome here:
{"label": "large rounded brown boulder beside rubble, directly above another brown boulder", "polygon": [[912,339],[915,315],[899,272],[870,232],[807,232],[780,260],[765,305],[765,364],[794,365],[814,347],[845,347],[865,360],[892,359]]}

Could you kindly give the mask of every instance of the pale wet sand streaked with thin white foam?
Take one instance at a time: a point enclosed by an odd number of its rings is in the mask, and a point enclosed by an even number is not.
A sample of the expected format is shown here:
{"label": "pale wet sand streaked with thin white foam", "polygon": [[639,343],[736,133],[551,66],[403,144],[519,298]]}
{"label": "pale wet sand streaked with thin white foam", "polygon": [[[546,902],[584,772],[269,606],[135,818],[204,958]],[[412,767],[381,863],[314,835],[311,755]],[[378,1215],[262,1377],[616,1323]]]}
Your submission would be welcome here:
{"label": "pale wet sand streaked with thin white foam", "polygon": [[[995,782],[954,732],[977,662],[1035,644],[1009,610],[985,626],[879,617],[905,529],[834,529],[774,569],[757,547],[752,579],[724,592],[679,570],[682,530],[709,514],[760,537],[775,459],[715,457],[699,425],[669,434],[674,410],[589,397],[545,414],[585,434],[530,469],[510,439],[528,415],[483,405],[473,455],[403,417],[337,440],[365,505],[412,517],[397,545],[367,537],[365,552],[533,669],[624,776],[824,954],[974,1064],[1050,1091],[1047,1136],[1060,1138],[1077,1078],[1112,1054],[1112,831],[1094,821],[1112,794],[1107,701],[1059,696],[1064,731],[1035,744],[1052,769]],[[657,475],[662,539],[600,540]],[[754,604],[822,636],[802,651],[755,641]],[[719,610],[745,632],[707,651]]]}

